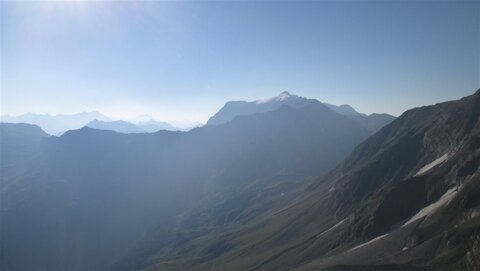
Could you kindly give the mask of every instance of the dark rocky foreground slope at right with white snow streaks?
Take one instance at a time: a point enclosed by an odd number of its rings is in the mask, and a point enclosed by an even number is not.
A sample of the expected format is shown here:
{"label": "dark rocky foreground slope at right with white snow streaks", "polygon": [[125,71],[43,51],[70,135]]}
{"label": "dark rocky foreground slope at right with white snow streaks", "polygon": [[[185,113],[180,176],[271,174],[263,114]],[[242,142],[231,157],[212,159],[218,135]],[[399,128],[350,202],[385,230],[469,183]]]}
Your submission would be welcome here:
{"label": "dark rocky foreground slope at right with white snow streaks", "polygon": [[479,164],[477,91],[407,111],[285,205],[184,218],[148,270],[480,270]]}

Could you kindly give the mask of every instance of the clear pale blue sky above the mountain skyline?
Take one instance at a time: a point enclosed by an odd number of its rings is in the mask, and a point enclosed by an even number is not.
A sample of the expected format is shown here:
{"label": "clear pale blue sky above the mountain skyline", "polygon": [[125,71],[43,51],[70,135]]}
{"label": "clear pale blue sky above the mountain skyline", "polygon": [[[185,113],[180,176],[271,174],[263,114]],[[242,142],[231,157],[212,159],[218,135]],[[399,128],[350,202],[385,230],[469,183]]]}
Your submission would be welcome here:
{"label": "clear pale blue sky above the mountain skyline", "polygon": [[1,114],[205,122],[282,91],[400,115],[480,88],[480,1],[1,1]]}

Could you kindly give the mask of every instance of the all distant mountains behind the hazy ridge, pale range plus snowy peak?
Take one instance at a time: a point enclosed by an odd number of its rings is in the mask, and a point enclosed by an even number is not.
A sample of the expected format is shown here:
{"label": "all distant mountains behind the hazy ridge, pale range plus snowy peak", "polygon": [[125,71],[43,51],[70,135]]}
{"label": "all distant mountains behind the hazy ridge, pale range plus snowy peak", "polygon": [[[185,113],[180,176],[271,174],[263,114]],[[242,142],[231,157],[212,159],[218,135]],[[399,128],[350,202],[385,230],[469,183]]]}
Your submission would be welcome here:
{"label": "all distant mountains behind the hazy ridge, pale range plus snowy peak", "polygon": [[[280,108],[283,105],[292,108],[302,108],[313,99],[307,99],[292,95],[289,92],[282,92],[280,95],[254,102],[231,101],[227,102],[214,116],[212,116],[207,124],[218,125],[233,120],[236,116],[250,115],[255,113],[263,113]],[[372,114],[365,115],[358,113],[350,105],[332,105],[323,103],[331,110],[348,116],[368,130],[375,132],[384,125],[390,123],[395,117],[388,114]],[[119,133],[154,133],[160,130],[168,131],[186,131],[195,127],[202,126],[199,122],[190,121],[172,121],[161,122],[153,120],[150,116],[139,116],[132,121],[113,120],[97,111],[82,112],[72,115],[48,115],[48,114],[24,114],[20,116],[2,116],[1,122],[4,123],[27,123],[34,124],[42,128],[50,135],[61,135],[68,130],[79,129],[88,126],[95,129],[111,130]]]}

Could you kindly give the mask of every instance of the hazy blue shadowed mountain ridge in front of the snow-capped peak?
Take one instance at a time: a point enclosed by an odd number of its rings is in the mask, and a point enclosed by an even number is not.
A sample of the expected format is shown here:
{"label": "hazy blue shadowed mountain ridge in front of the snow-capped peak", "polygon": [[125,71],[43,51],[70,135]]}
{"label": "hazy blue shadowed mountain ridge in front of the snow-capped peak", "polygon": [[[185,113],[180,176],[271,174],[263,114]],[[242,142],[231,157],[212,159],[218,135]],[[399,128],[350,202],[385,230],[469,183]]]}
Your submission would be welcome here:
{"label": "hazy blue shadowed mountain ridge in front of the snow-capped peak", "polygon": [[370,134],[315,101],[189,132],[1,127],[1,270],[105,270],[195,204],[252,187],[285,204]]}

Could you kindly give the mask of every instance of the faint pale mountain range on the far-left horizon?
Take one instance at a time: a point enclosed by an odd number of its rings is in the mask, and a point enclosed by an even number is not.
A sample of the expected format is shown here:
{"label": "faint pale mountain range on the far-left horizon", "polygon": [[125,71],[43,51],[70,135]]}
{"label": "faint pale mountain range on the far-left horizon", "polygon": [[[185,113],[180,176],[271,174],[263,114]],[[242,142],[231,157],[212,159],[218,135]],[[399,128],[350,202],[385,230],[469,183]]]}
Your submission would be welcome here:
{"label": "faint pale mountain range on the far-left horizon", "polygon": [[61,135],[68,130],[75,130],[84,126],[119,133],[153,133],[159,130],[189,130],[201,125],[196,122],[178,122],[179,126],[175,127],[168,122],[153,120],[149,116],[142,116],[136,123],[132,123],[124,120],[113,120],[96,111],[72,115],[29,113],[20,116],[2,116],[1,122],[34,124],[51,135]]}

